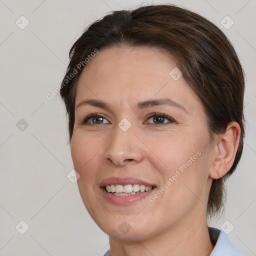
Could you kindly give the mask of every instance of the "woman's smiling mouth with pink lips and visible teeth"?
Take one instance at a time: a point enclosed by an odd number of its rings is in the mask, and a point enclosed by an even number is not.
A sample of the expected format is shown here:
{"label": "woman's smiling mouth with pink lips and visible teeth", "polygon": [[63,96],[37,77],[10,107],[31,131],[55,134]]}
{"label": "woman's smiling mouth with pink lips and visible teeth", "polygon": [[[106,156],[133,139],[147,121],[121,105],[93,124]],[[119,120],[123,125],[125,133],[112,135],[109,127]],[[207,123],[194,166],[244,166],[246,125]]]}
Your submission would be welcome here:
{"label": "woman's smiling mouth with pink lips and visible teeth", "polygon": [[99,187],[108,202],[128,205],[148,197],[155,190],[156,185],[137,178],[110,177],[100,182]]}

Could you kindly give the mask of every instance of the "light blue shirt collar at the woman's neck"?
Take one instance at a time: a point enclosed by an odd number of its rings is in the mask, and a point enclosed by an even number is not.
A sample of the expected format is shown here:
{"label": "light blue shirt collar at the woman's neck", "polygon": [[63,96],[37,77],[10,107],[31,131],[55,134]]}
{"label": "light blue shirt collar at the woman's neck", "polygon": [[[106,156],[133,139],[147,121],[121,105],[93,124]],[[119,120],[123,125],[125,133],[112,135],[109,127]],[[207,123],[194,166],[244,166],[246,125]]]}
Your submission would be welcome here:
{"label": "light blue shirt collar at the woman's neck", "polygon": [[[210,240],[214,244],[214,248],[209,256],[243,256],[229,241],[223,231],[215,227],[208,227]],[[108,250],[104,256],[111,256]]]}

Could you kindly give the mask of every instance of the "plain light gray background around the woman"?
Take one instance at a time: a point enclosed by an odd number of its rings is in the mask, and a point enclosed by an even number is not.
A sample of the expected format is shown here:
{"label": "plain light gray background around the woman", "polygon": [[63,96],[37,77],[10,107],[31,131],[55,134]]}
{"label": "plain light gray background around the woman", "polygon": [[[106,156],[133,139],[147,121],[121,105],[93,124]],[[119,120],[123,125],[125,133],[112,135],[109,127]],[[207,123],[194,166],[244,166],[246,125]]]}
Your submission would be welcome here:
{"label": "plain light gray background around the woman", "polygon": [[[103,255],[109,248],[66,177],[72,160],[65,109],[59,95],[46,94],[61,82],[68,51],[86,25],[143,2],[198,12],[237,51],[246,73],[244,151],[227,182],[225,214],[209,225],[229,231],[233,225],[228,238],[244,255],[256,255],[256,0],[0,0],[0,255]],[[29,21],[23,29],[21,15]],[[229,29],[220,23],[226,15],[234,21]],[[21,220],[29,226],[24,234]]]}

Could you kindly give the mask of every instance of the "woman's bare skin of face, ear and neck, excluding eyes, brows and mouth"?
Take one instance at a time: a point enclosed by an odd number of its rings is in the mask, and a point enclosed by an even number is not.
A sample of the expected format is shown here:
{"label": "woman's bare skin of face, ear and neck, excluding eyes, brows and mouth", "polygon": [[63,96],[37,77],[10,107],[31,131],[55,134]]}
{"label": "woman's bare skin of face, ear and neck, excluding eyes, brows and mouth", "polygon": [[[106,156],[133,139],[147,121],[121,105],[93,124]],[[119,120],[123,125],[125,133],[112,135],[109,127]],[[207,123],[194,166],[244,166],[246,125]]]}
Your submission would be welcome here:
{"label": "woman's bare skin of face, ear and neck, excluding eyes, brows and mouth", "polygon": [[[169,72],[174,59],[159,49],[118,46],[99,51],[83,69],[75,106],[84,99],[100,99],[110,110],[81,105],[75,108],[71,139],[74,169],[83,203],[96,224],[109,235],[111,255],[209,255],[211,243],[206,205],[212,178],[231,167],[238,146],[239,125],[211,138],[202,103],[183,77]],[[136,109],[138,101],[169,97],[186,111],[168,105]],[[173,122],[148,118],[164,113]],[[84,117],[104,115],[103,124]],[[126,118],[131,127],[118,123]],[[98,121],[100,123],[100,121]],[[148,197],[130,204],[114,205],[101,194],[99,182],[116,177],[135,177],[159,189],[183,163],[201,153],[153,202]],[[118,226],[130,226],[122,233]]]}

